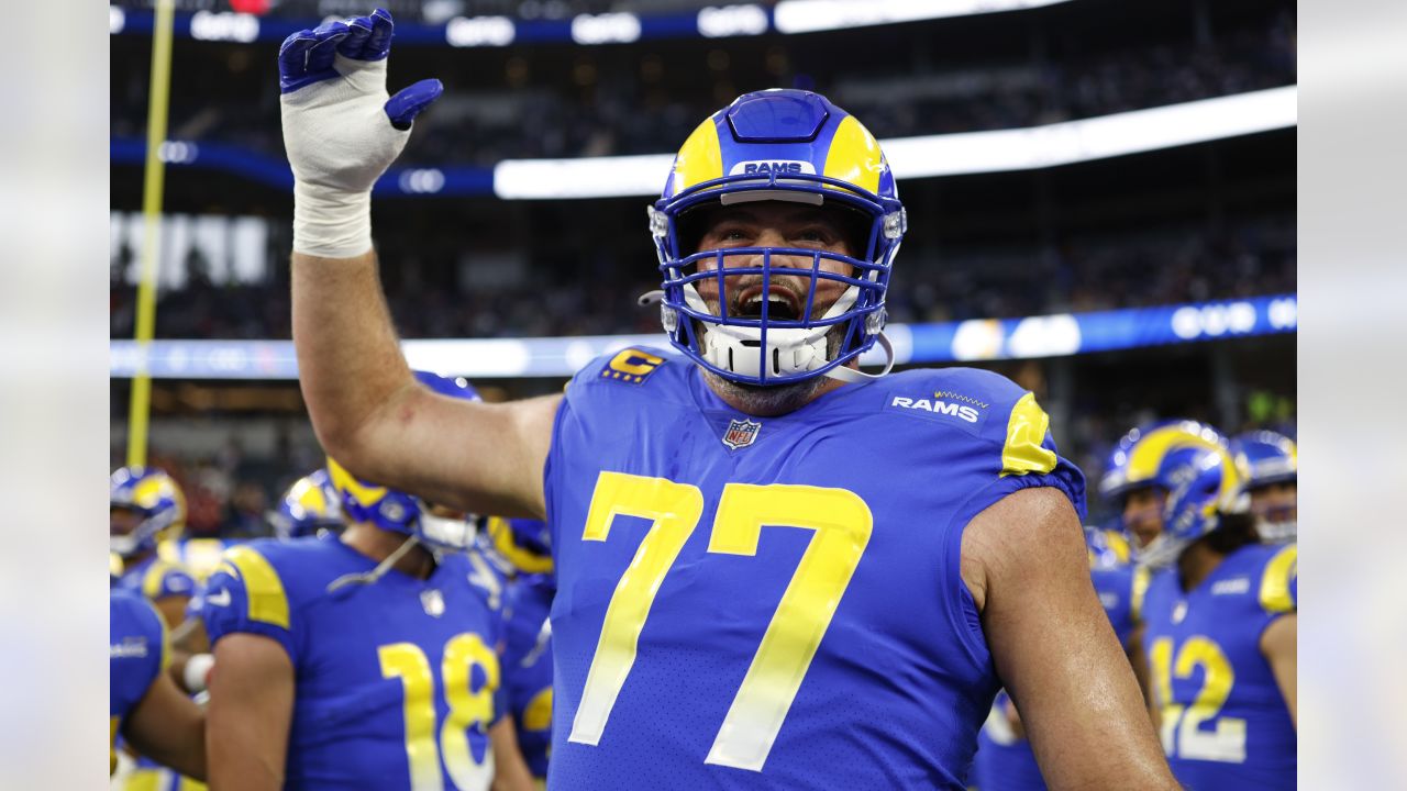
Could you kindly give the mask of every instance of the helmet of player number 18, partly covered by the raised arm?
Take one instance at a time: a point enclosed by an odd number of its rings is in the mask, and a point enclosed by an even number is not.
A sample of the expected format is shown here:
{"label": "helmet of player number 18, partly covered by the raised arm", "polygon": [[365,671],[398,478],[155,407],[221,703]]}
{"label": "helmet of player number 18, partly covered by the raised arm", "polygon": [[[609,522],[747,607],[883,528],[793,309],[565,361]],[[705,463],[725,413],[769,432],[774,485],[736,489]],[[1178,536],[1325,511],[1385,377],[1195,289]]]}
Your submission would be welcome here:
{"label": "helmet of player number 18, partly covered by the raised arm", "polygon": [[[422,384],[452,398],[477,401],[478,393],[463,379],[446,379],[426,372],[415,372]],[[436,550],[463,552],[474,543],[478,517],[464,514],[438,517],[419,497],[357,479],[328,457],[328,476],[342,498],[342,510],[353,522],[370,522],[383,531],[415,536]]]}

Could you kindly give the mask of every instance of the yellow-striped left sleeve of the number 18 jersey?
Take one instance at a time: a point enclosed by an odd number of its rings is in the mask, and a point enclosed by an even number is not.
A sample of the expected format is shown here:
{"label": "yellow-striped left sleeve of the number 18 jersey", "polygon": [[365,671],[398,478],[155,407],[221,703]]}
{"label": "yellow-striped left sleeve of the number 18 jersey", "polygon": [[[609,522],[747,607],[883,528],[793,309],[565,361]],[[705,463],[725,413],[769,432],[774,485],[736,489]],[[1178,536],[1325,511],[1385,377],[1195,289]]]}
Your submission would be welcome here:
{"label": "yellow-striped left sleeve of the number 18 jersey", "polygon": [[225,635],[246,632],[277,642],[294,664],[298,662],[293,608],[283,578],[257,545],[225,552],[205,583],[201,616],[211,646]]}

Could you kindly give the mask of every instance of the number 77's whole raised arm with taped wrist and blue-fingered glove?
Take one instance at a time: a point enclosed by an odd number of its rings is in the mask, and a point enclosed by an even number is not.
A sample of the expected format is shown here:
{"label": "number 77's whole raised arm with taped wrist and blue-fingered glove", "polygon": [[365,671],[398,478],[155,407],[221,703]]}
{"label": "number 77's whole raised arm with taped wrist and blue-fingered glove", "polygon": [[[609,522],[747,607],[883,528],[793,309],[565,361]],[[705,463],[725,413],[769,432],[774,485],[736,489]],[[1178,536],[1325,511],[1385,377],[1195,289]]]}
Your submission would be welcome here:
{"label": "number 77's whole raised arm with taped wrist and blue-fingered glove", "polygon": [[371,249],[371,186],[443,90],[388,96],[391,15],[328,23],[279,52],[294,173],[293,339],[312,426],[359,477],[480,514],[543,515],[559,397],[474,404],[411,377]]}

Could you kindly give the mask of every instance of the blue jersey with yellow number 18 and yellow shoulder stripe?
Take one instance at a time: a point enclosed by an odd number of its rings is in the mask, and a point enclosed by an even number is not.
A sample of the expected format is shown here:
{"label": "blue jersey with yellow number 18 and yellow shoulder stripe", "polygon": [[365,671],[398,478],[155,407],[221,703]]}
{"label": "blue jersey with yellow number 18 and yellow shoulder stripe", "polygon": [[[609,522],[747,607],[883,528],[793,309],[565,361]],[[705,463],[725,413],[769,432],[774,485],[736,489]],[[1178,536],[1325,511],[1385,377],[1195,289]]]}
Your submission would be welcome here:
{"label": "blue jersey with yellow number 18 and yellow shoulder stripe", "polygon": [[487,788],[502,624],[480,570],[449,553],[426,580],[328,591],[376,566],[331,535],[229,549],[205,586],[211,645],[245,632],[287,652],[286,788]]}

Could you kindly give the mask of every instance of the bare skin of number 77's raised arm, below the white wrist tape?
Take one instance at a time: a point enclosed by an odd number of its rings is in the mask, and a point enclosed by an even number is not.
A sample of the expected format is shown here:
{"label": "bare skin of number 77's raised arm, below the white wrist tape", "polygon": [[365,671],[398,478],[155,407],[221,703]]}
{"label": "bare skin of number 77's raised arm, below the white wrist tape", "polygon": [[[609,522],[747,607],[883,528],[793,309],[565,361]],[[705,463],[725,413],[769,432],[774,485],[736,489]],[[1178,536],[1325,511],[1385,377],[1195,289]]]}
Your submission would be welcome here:
{"label": "bare skin of number 77's raised arm, below the white wrist tape", "polygon": [[560,397],[452,400],[411,377],[376,255],[293,256],[293,334],[318,439],[352,473],[480,514],[543,515]]}

